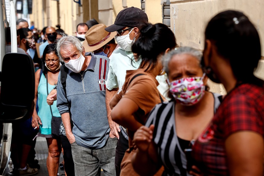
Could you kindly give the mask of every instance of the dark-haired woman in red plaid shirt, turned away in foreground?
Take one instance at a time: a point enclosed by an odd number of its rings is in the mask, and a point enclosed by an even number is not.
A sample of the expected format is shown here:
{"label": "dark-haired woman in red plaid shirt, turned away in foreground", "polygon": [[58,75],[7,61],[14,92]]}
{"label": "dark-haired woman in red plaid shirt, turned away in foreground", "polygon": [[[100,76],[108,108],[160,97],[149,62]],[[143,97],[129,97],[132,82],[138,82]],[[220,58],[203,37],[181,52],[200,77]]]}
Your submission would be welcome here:
{"label": "dark-haired woman in red plaid shirt, turned away in foreground", "polygon": [[209,21],[202,64],[227,96],[192,148],[204,175],[263,175],[264,83],[253,74],[260,59],[258,32],[242,12],[224,11]]}

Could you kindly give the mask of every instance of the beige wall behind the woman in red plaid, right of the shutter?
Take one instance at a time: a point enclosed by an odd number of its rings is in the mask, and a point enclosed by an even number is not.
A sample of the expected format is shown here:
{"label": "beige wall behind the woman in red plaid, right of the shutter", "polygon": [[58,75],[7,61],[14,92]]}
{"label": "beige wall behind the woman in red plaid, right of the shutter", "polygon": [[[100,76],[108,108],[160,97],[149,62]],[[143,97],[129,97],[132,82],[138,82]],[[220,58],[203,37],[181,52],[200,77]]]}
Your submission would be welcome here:
{"label": "beige wall behind the woman in red plaid, right of the shutter", "polygon": [[[180,46],[191,46],[204,49],[204,30],[207,22],[220,11],[234,9],[243,11],[255,24],[262,43],[264,55],[264,6],[263,0],[170,0],[171,30],[174,32]],[[245,49],[246,49],[245,44]],[[264,62],[259,64],[255,75],[264,79]],[[210,90],[225,94],[224,87],[208,82]]]}

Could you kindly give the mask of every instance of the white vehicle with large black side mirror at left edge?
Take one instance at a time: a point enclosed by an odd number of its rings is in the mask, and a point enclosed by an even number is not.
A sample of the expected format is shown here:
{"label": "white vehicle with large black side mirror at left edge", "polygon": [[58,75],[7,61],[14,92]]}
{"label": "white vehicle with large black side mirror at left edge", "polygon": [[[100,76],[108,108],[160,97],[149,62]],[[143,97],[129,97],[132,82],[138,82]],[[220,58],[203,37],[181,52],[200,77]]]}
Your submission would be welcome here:
{"label": "white vehicle with large black side mirror at left edge", "polygon": [[[5,8],[8,2],[8,11]],[[0,175],[8,166],[12,122],[28,119],[34,107],[34,64],[27,54],[17,53],[15,5],[2,0],[0,12]],[[8,24],[6,14],[9,14]],[[6,28],[11,29],[11,53],[5,53]]]}

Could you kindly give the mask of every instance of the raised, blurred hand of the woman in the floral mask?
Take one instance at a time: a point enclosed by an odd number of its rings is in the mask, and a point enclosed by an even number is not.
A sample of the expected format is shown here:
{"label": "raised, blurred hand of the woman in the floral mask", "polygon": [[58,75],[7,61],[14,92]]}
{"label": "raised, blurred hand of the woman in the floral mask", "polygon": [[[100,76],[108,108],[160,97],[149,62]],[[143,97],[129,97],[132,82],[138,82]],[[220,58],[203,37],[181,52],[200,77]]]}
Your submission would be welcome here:
{"label": "raised, blurred hand of the woman in the floral mask", "polygon": [[150,127],[141,126],[134,134],[133,145],[142,152],[146,152],[152,141],[154,125]]}

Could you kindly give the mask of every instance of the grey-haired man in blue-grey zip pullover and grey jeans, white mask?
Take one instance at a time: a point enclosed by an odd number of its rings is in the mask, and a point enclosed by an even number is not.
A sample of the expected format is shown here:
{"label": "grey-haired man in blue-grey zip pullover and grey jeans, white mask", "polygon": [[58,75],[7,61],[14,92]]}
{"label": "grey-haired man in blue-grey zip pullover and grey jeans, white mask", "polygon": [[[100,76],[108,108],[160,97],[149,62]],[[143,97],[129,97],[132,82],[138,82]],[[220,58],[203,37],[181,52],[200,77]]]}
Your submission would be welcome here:
{"label": "grey-haired man in blue-grey zip pullover and grey jeans, white mask", "polygon": [[67,72],[66,90],[58,78],[57,107],[71,144],[75,175],[97,175],[101,167],[105,175],[115,176],[117,138],[109,138],[105,104],[109,58],[85,54],[73,36],[63,36],[57,52]]}

